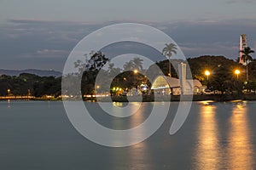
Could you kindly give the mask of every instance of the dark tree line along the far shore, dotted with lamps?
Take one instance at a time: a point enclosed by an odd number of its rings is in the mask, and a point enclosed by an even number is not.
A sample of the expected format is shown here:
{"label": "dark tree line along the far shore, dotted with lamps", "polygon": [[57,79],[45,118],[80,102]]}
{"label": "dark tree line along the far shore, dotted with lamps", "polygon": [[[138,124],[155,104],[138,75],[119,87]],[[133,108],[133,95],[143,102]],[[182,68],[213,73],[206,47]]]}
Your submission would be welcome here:
{"label": "dark tree line along the far shore, dotted with lamps", "polygon": [[[255,59],[251,59],[251,62],[248,62],[247,65],[241,65],[236,60],[227,59],[224,56],[210,55],[187,59],[194,79],[199,80],[212,91],[218,90],[227,94],[241,93],[243,89],[256,91],[255,61]],[[173,62],[180,63],[182,60],[172,59],[172,64]],[[108,65],[108,68],[101,71],[103,65]],[[177,77],[176,70],[172,65],[170,67],[170,59],[156,62],[156,65],[159,66],[164,75],[170,76],[170,72],[172,72],[172,77]],[[72,77],[74,80],[69,83],[69,89],[72,89],[76,77],[82,76],[82,82],[77,82],[80,84],[82,94],[95,94],[96,90],[102,89],[103,91],[104,88],[114,94],[113,89],[117,87],[130,90],[131,88],[138,88],[140,84],[145,84],[149,88],[151,86],[149,78],[144,76],[146,70],[143,68],[143,59],[132,58],[132,56],[130,61],[125,62],[123,68],[118,68],[102,52],[93,52],[88,60],[75,62],[74,67],[79,70],[79,73],[67,75],[67,77]],[[235,69],[240,70],[241,74],[236,75],[234,73]],[[206,70],[211,72],[208,79],[205,75]],[[99,89],[96,89],[96,77],[100,71],[103,77],[106,77],[104,78],[106,81],[108,81],[108,77],[117,75],[111,79],[110,89],[104,87],[105,82],[101,82]],[[152,77],[157,75],[157,72],[150,74]],[[52,95],[57,97],[61,95],[61,78],[38,77],[28,73],[22,73],[18,77],[2,75],[0,76],[0,95],[32,95],[36,97]]]}

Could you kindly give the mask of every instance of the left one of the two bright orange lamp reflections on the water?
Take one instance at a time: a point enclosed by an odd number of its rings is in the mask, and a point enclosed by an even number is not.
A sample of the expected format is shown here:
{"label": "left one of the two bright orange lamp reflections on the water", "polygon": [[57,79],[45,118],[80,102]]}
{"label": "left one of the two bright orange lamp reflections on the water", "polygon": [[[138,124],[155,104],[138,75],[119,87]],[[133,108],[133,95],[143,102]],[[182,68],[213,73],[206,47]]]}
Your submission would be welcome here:
{"label": "left one of the two bright orange lamp reflections on the water", "polygon": [[195,169],[220,169],[216,106],[202,105],[195,148]]}

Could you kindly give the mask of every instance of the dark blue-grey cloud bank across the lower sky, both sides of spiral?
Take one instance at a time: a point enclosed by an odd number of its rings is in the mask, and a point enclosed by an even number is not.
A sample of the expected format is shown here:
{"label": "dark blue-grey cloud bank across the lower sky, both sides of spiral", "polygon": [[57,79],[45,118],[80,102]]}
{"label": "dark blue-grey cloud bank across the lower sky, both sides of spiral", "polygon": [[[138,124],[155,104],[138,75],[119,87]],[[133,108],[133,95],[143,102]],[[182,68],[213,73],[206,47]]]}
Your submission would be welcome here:
{"label": "dark blue-grey cloud bank across the lower sky, both sides of spiral", "polygon": [[[33,65],[33,68],[50,69],[56,66],[58,70],[62,70],[68,54],[82,38],[113,23],[116,22],[98,24],[9,20],[8,24],[0,26],[0,68],[30,68],[29,65]],[[185,20],[149,24],[172,37],[188,57],[223,54],[235,59],[242,33],[247,34],[249,46],[256,49],[256,20]],[[134,37],[135,41],[136,38]],[[109,48],[109,54],[112,54],[113,48]],[[121,45],[114,49],[118,54],[130,50]],[[134,50],[138,54],[153,54],[147,48]]]}

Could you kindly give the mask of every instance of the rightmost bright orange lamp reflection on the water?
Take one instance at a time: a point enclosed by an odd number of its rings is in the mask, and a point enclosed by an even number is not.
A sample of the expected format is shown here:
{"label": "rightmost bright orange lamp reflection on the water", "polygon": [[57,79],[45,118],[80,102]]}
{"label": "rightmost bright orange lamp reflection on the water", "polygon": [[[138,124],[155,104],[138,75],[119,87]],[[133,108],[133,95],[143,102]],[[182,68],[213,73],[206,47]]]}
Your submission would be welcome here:
{"label": "rightmost bright orange lamp reflection on the water", "polygon": [[253,150],[248,127],[247,107],[244,104],[237,104],[232,111],[228,139],[229,168],[253,169]]}

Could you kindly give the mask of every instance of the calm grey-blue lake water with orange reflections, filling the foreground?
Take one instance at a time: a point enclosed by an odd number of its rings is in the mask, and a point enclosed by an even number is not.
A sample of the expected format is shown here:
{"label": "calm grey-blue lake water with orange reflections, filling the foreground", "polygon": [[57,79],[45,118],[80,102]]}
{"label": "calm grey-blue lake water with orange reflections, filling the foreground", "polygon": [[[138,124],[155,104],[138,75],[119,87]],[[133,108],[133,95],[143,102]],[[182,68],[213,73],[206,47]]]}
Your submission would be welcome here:
{"label": "calm grey-blue lake water with orange reflections, filling the foreground", "polygon": [[[255,101],[193,102],[183,127],[171,136],[177,105],[171,103],[166,122],[150,138],[109,148],[80,135],[61,101],[1,101],[0,169],[256,169]],[[97,110],[91,114],[104,126],[125,129],[143,122],[151,108],[143,103],[124,123]]]}

